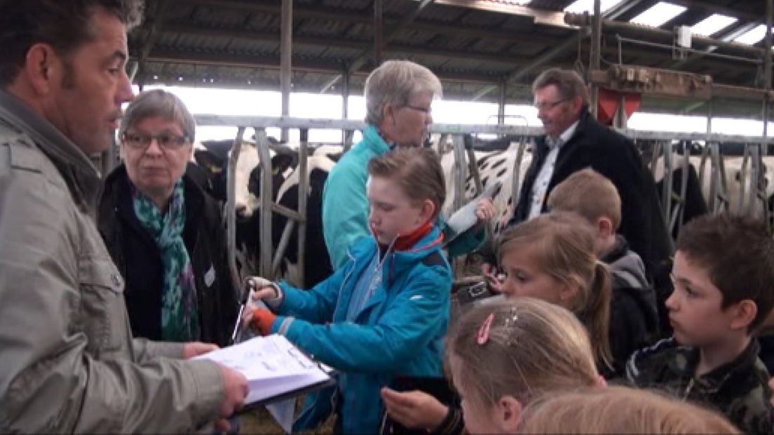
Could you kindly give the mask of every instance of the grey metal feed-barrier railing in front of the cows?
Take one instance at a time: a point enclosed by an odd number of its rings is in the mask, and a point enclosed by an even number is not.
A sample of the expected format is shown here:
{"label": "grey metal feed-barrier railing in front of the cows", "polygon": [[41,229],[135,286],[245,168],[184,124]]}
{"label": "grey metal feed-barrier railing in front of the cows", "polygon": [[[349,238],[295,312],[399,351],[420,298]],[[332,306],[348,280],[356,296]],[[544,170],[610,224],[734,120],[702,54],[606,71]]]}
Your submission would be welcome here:
{"label": "grey metal feed-barrier railing in front of the cows", "polygon": [[[261,223],[259,229],[260,246],[260,266],[259,274],[267,279],[275,279],[278,277],[279,265],[283,259],[286,248],[289,245],[289,240],[293,228],[298,225],[298,259],[299,259],[299,278],[303,286],[303,271],[306,254],[306,224],[307,224],[307,194],[308,194],[308,173],[307,173],[307,157],[308,157],[308,132],[310,129],[338,129],[343,132],[345,138],[348,138],[348,143],[344,143],[344,150],[349,149],[351,144],[352,134],[355,130],[361,130],[365,127],[364,122],[341,120],[341,119],[307,119],[307,118],[274,118],[274,117],[254,117],[254,116],[228,116],[228,115],[196,115],[197,125],[207,126],[230,126],[238,127],[238,135],[235,139],[234,146],[232,148],[231,158],[229,159],[229,177],[228,177],[228,202],[226,213],[226,227],[228,234],[228,259],[232,274],[234,274],[235,288],[239,288],[239,283],[242,282],[244,277],[239,276],[239,272],[236,268],[235,262],[235,187],[232,183],[235,181],[235,177],[232,176],[235,165],[238,158],[239,147],[241,146],[242,136],[245,134],[245,128],[255,128],[256,137],[255,142],[257,144],[257,152],[259,152],[259,165],[261,168],[261,198],[260,198],[260,210],[261,210]],[[298,147],[299,156],[299,210],[293,211],[287,207],[283,207],[280,204],[276,204],[272,198],[272,167],[271,159],[269,159],[269,140],[265,136],[265,128],[289,128],[298,129],[300,131],[300,146]],[[752,180],[759,180],[758,183],[750,183],[750,189],[752,191],[746,192],[748,201],[739,202],[742,212],[752,211],[752,200],[762,201],[764,203],[763,210],[765,211],[765,187],[762,185],[762,163],[760,156],[762,155],[761,147],[759,144],[769,144],[770,139],[761,138],[758,136],[741,136],[741,135],[718,135],[718,134],[705,134],[705,133],[684,133],[684,132],[647,132],[631,129],[619,129],[618,132],[628,136],[634,140],[640,148],[643,146],[649,147],[651,155],[657,158],[658,155],[664,156],[664,171],[667,178],[666,183],[669,187],[667,190],[664,188],[662,193],[668,193],[663,195],[661,206],[663,207],[665,222],[669,225],[670,229],[676,225],[679,225],[682,221],[683,210],[686,200],[686,183],[687,176],[683,174],[678,182],[680,183],[679,193],[671,194],[674,180],[672,178],[672,170],[679,165],[687,166],[687,150],[690,149],[692,144],[697,142],[703,142],[705,145],[701,149],[701,164],[699,168],[700,180],[704,180],[707,174],[704,171],[705,163],[709,162],[709,176],[711,177],[711,211],[728,210],[729,197],[728,197],[728,180],[724,172],[724,159],[723,159],[723,144],[726,143],[744,143],[745,144],[745,157],[742,160],[741,176],[747,176],[748,172],[752,176]],[[481,177],[478,173],[478,166],[476,164],[475,154],[475,141],[474,135],[490,134],[498,135],[502,138],[510,140],[510,143],[515,146],[515,160],[512,180],[512,204],[518,204],[519,200],[519,187],[521,186],[521,179],[523,174],[521,173],[521,164],[528,152],[531,152],[531,146],[534,143],[534,139],[539,135],[543,135],[543,128],[530,127],[522,125],[450,125],[450,124],[433,124],[430,125],[430,133],[440,134],[440,139],[437,142],[437,151],[440,153],[447,140],[450,138],[452,142],[452,152],[454,154],[454,210],[458,210],[463,207],[467,202],[465,197],[466,181],[468,173],[471,174],[471,178],[474,180],[474,196],[481,193],[483,186],[481,185]],[[273,145],[276,147],[276,145]],[[671,152],[676,149],[679,154],[682,154],[675,162],[672,159]],[[682,151],[682,152],[680,152]],[[651,165],[652,166],[652,165]],[[651,167],[652,169],[652,167]],[[745,186],[745,183],[742,183]],[[745,195],[745,192],[741,193]],[[740,198],[741,199],[741,198]],[[745,205],[746,204],[746,205]],[[271,211],[265,213],[265,211]],[[279,244],[275,249],[272,247],[272,213],[283,214],[288,218],[285,228],[283,228],[283,234],[280,237]],[[457,276],[459,268],[455,267],[455,276]],[[474,282],[478,277],[458,277],[457,282],[461,284],[469,284]]]}

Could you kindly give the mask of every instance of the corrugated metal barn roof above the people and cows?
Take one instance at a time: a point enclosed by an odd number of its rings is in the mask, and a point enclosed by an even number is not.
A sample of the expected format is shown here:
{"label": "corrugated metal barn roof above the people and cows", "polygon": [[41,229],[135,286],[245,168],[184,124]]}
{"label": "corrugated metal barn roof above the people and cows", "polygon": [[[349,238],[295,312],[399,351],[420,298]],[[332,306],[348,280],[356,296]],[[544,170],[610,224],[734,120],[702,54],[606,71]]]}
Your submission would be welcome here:
{"label": "corrugated metal barn roof above the people and cows", "polygon": [[[149,5],[157,1],[148,0]],[[626,21],[657,1],[625,0],[632,2],[632,7],[618,15],[617,19]],[[557,12],[572,2],[533,0],[526,7]],[[466,4],[474,3],[524,5],[526,2],[482,0]],[[763,2],[707,0],[688,4],[691,7],[687,12],[667,22],[663,29],[671,29],[676,24],[693,25],[715,10],[737,14],[737,27],[748,22],[761,22],[763,16]],[[149,20],[146,27],[130,39],[132,53],[139,53],[139,47],[151,34],[148,26],[159,22],[149,50],[149,72],[159,74],[159,77],[163,75],[164,80],[183,77],[183,82],[190,83],[210,83],[209,80],[213,79],[255,87],[279,84],[282,21],[279,0],[166,0],[166,5],[163,17]],[[360,86],[365,74],[375,66],[371,59],[374,53],[372,5],[372,0],[293,1],[293,68],[297,73],[293,80],[297,87],[319,85],[321,89],[334,74],[340,74],[343,67],[351,65],[361,53],[367,53],[369,58],[354,71],[351,79],[353,88]],[[536,58],[577,34],[573,28],[538,23],[535,16],[441,4],[430,4],[413,21],[396,29],[400,22],[416,11],[420,2],[382,0],[382,5],[383,31],[385,35],[392,36],[382,47],[383,57],[407,58],[423,63],[444,80],[445,87],[459,92],[474,94],[481,87],[498,84],[509,74],[521,71]],[[521,7],[515,9],[526,10]],[[639,39],[649,38],[637,28],[626,34]],[[608,35],[603,44],[603,60],[608,62],[618,60],[613,36]],[[721,48],[716,53],[726,53],[726,50]],[[626,46],[623,57],[625,62],[649,63],[659,67],[677,64],[670,50],[645,46]],[[541,67],[572,67],[577,60],[587,64],[587,39],[580,53],[577,45],[569,46]],[[529,80],[541,67],[524,74],[518,83],[510,84],[509,95],[512,98],[524,95]],[[717,82],[741,86],[752,86],[759,76],[755,65],[709,57],[684,63],[681,68],[707,72]],[[495,94],[485,98],[495,98]]]}

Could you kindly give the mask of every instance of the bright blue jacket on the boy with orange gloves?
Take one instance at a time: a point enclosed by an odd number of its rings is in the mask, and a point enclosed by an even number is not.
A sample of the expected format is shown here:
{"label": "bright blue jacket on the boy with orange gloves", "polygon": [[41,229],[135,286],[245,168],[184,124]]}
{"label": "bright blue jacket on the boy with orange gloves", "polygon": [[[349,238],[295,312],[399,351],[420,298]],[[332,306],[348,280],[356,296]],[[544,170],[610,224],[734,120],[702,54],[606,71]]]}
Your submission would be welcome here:
{"label": "bright blue jacket on the boy with orange gloves", "polygon": [[294,431],[318,426],[335,410],[344,433],[376,433],[383,386],[396,375],[443,375],[452,275],[440,240],[433,228],[412,249],[387,252],[382,283],[354,322],[347,311],[359,277],[378,255],[373,237],[358,240],[350,261],[313,289],[279,284],[284,296],[272,332],[346,378],[340,394],[330,388],[307,397]]}

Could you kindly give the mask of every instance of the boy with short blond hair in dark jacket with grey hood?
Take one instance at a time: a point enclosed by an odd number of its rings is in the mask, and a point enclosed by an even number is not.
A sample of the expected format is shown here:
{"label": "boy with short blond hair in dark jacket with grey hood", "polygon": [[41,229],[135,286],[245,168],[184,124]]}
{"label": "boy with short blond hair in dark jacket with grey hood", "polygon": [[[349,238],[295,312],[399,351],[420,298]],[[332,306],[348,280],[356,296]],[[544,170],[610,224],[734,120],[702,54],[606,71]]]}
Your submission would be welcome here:
{"label": "boy with short blond hair in dark jacket with grey hood", "polygon": [[621,224],[618,190],[606,177],[586,168],[554,187],[548,207],[579,214],[596,232],[594,254],[609,266],[613,277],[609,340],[614,373],[609,375],[623,376],[632,353],[656,340],[659,318],[642,259],[616,233]]}

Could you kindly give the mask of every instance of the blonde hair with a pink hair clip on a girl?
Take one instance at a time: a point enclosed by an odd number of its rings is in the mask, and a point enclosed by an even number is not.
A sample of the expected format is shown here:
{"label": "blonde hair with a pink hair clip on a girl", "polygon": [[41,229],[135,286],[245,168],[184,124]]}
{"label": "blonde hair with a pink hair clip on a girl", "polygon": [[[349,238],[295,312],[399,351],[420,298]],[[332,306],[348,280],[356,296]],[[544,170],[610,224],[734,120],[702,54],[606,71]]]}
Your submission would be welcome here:
{"label": "blonde hair with a pink hair clip on a girl", "polygon": [[[481,344],[485,323],[491,326]],[[506,395],[529,402],[544,392],[599,382],[586,329],[572,313],[543,300],[524,297],[474,307],[447,341],[447,360],[459,363],[455,384],[464,385],[481,406],[493,406]]]}

